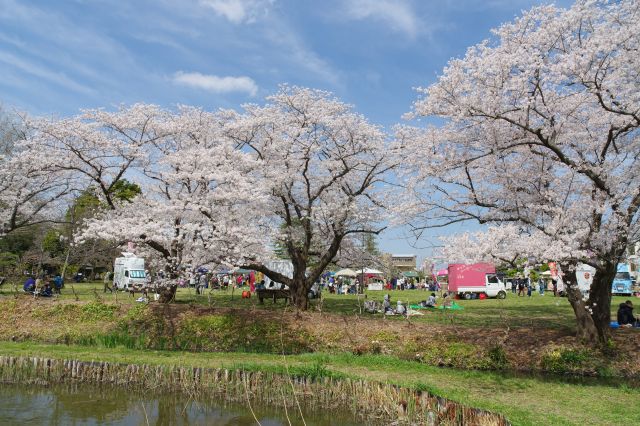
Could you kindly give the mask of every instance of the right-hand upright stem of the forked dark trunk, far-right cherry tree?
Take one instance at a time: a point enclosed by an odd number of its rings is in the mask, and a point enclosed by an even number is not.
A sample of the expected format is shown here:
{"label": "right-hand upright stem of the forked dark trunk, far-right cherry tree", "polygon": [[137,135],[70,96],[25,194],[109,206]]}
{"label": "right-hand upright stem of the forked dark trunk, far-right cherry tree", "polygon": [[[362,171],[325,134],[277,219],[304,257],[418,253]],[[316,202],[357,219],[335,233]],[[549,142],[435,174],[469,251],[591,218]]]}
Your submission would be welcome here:
{"label": "right-hand upright stem of the forked dark trunk, far-right cherry tree", "polygon": [[596,270],[589,291],[587,307],[591,308],[593,321],[598,330],[598,342],[607,343],[611,331],[611,285],[616,276],[618,262],[606,262]]}

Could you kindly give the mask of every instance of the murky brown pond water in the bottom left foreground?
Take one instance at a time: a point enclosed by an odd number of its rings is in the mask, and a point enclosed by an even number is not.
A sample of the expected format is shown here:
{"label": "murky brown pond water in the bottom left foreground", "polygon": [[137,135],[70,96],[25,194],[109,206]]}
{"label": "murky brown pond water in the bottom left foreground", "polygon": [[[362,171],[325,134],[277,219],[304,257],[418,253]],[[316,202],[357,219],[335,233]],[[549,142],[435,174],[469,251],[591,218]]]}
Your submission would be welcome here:
{"label": "murky brown pond water in the bottom left foreground", "polygon": [[[0,425],[255,425],[302,424],[300,413],[282,407],[195,400],[181,393],[140,393],[90,385],[0,385]],[[307,425],[361,424],[346,410],[304,411]]]}

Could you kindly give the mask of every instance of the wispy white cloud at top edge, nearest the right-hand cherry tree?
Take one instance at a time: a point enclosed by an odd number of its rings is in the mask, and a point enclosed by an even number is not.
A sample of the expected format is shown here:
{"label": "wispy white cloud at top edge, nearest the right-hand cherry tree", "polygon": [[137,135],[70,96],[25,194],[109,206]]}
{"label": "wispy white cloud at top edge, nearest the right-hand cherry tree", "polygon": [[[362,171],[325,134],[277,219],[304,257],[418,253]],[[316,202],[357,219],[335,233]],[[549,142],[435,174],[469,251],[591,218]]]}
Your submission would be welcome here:
{"label": "wispy white cloud at top edge, nearest the right-hand cherry tree", "polygon": [[416,14],[405,0],[344,0],[344,11],[348,18],[382,21],[411,38],[420,31]]}

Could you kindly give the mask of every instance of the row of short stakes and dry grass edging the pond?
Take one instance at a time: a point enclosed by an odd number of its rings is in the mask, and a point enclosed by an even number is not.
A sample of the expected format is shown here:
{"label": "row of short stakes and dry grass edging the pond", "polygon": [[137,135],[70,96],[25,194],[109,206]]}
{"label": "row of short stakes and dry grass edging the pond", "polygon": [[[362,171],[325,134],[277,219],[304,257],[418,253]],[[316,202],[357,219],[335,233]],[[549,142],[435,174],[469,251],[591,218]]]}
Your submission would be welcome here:
{"label": "row of short stakes and dry grass edging the pond", "polygon": [[[246,398],[268,405],[350,408],[370,423],[506,425],[499,414],[462,406],[428,392],[330,374],[321,366],[281,372],[247,369],[85,362],[39,357],[0,356],[0,380],[19,383],[84,382],[136,389],[170,389],[189,394],[223,397],[230,402]],[[284,398],[283,398],[284,396]]]}

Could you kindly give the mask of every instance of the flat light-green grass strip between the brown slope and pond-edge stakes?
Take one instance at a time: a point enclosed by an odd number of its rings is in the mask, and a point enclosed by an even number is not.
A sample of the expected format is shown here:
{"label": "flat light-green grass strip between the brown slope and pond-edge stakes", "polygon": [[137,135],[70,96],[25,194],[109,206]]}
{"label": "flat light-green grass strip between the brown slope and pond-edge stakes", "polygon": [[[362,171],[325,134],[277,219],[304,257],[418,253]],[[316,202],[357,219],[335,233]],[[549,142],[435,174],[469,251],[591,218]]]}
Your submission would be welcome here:
{"label": "flat light-green grass strip between the brown slope and pond-edge stakes", "polygon": [[184,353],[125,348],[0,342],[0,355],[130,364],[338,375],[428,390],[504,414],[515,425],[613,425],[640,422],[640,390],[625,385],[565,383],[493,372],[459,371],[383,355]]}

